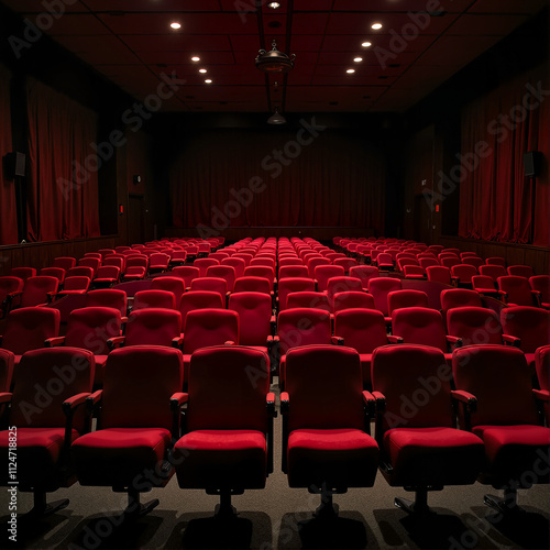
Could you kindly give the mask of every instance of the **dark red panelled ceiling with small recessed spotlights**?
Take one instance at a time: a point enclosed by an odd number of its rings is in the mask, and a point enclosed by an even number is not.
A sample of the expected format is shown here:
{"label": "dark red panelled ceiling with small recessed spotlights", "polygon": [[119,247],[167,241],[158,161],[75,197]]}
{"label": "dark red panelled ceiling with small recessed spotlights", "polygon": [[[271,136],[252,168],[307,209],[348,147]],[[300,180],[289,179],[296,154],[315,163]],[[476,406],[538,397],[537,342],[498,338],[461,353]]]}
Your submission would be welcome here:
{"label": "dark red panelled ceiling with small recessed spotlights", "polygon": [[[403,112],[548,2],[280,0],[273,10],[267,0],[57,0],[66,11],[55,16],[44,1],[1,3],[38,28],[50,21],[47,34],[139,100],[161,74],[177,75],[185,85],[163,111]],[[273,40],[296,54],[287,76],[254,66]]]}

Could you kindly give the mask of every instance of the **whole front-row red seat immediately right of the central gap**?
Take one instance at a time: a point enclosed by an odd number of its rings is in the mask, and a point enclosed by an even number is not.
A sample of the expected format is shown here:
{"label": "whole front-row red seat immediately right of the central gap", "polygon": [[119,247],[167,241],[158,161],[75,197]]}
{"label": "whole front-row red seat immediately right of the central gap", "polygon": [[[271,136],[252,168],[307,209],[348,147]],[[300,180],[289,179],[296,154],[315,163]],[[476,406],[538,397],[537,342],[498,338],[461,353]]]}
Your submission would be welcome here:
{"label": "whole front-row red seat immediately right of the central gap", "polygon": [[378,446],[370,436],[373,409],[355,350],[289,350],[286,392],[280,394],[283,472],[290,487],[321,495],[317,516],[336,515],[334,493],[374,485]]}

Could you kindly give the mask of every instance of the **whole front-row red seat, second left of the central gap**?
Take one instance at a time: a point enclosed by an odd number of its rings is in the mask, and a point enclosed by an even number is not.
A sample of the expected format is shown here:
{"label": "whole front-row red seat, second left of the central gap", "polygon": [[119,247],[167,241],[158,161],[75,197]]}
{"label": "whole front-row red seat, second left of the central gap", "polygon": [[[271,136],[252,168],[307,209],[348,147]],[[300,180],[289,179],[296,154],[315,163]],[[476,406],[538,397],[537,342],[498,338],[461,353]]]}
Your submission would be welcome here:
{"label": "whole front-row red seat, second left of the central gap", "polygon": [[157,499],[141,505],[140,492],[165,486],[174,473],[169,458],[180,430],[179,408],[170,410],[170,399],[182,400],[183,377],[179,350],[122,348],[109,355],[103,389],[90,398],[100,405],[99,429],[72,446],[78,481],[128,493],[125,516],[157,506]]}

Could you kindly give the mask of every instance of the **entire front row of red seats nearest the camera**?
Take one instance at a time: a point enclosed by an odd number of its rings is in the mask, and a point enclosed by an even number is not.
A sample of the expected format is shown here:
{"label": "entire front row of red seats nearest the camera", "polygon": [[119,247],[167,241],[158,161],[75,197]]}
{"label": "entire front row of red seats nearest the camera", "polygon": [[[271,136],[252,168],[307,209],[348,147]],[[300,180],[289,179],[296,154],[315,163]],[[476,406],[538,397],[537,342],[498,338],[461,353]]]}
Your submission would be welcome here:
{"label": "entire front row of red seats nearest the camera", "polygon": [[[517,512],[518,488],[548,483],[548,469],[540,466],[550,429],[537,404],[549,404],[550,348],[537,360],[546,386],[532,392],[525,356],[514,348],[461,348],[447,366],[433,348],[382,346],[373,354],[371,393],[363,389],[356,351],[290,350],[280,395],[282,469],[289,486],[321,494],[318,514],[333,516],[334,493],[372,487],[380,471],[391,486],[415,492],[414,503],[395,504],[418,517],[429,512],[429,491],[477,480],[504,488],[503,499],[486,496],[486,504],[501,514]],[[11,362],[0,354],[3,380]],[[130,517],[153,509],[158,501],[141,505],[140,493],[165,486],[174,473],[182,488],[219,494],[222,516],[234,514],[232,494],[265,486],[274,470],[276,403],[264,352],[227,345],[197,351],[186,393],[179,350],[116,350],[103,389],[91,393],[94,370],[85,350],[35,350],[23,355],[13,393],[0,393],[0,404],[10,407],[0,452],[8,464],[16,447],[18,488],[34,493],[32,514],[66,507],[68,501],[47,506],[46,493],[76,480],[127,492]],[[48,398],[35,410],[28,404],[37,403],[37,387]],[[0,480],[10,486],[8,468]]]}

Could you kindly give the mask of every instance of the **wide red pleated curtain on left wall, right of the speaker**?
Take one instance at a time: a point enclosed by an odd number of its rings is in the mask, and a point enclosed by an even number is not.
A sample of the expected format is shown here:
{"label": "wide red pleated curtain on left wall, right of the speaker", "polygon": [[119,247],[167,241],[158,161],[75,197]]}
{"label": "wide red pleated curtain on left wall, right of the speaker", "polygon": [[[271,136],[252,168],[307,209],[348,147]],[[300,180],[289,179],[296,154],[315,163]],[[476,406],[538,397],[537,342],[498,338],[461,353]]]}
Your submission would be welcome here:
{"label": "wide red pleated curtain on left wall, right of the speaker", "polygon": [[28,109],[29,240],[99,235],[96,113],[34,79]]}

